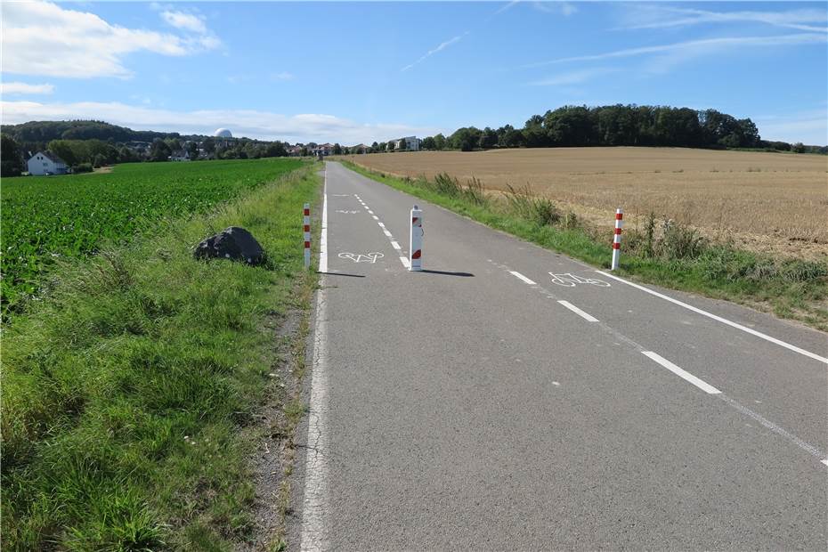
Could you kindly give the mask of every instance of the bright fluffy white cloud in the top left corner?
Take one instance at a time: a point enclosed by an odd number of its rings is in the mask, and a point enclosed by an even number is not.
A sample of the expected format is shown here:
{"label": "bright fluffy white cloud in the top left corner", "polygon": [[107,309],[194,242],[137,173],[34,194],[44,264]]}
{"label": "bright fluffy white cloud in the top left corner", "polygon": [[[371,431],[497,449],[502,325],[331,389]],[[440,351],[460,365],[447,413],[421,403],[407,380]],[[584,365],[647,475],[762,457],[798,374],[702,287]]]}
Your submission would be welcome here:
{"label": "bright fluffy white cloud in the top left corner", "polygon": [[212,36],[179,37],[111,25],[91,12],[47,2],[3,4],[3,73],[49,77],[129,77],[122,59],[146,51],[182,56],[212,49]]}

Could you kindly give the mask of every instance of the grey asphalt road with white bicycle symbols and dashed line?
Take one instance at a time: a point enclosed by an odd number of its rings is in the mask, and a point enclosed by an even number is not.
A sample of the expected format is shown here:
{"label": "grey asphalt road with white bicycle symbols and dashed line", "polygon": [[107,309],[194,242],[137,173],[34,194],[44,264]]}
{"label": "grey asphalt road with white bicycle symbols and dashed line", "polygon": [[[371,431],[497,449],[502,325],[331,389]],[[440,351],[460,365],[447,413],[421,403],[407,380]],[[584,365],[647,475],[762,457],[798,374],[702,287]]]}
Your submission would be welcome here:
{"label": "grey asphalt road with white bicycle symbols and dashed line", "polygon": [[825,334],[333,162],[326,204],[292,548],[828,548]]}

